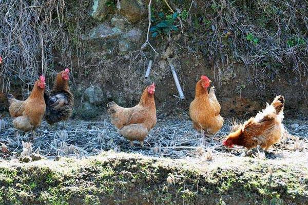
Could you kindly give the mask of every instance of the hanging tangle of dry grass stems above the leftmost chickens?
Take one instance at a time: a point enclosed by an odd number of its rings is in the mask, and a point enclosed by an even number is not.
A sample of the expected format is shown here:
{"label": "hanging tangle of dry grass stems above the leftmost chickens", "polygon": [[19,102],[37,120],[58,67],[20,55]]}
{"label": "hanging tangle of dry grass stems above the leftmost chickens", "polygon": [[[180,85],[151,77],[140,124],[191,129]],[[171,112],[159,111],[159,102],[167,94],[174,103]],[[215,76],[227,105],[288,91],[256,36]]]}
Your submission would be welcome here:
{"label": "hanging tangle of dry grass stems above the leftmost chickens", "polygon": [[0,2],[0,7],[0,91],[10,90],[19,78],[27,95],[38,74],[53,71],[53,50],[67,50],[65,2],[8,0]]}

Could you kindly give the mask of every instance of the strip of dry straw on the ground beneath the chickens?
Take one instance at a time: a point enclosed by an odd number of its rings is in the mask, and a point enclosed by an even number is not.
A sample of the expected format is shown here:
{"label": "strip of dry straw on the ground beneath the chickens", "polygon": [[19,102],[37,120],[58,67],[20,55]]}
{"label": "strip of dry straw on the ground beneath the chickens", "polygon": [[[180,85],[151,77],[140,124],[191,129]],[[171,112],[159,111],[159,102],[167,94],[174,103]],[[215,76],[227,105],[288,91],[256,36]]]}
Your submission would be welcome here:
{"label": "strip of dry straw on the ground beneath the chickens", "polygon": [[[245,151],[240,147],[227,149],[221,145],[222,139],[232,127],[228,120],[216,135],[205,138],[192,129],[191,121],[188,119],[158,120],[156,127],[144,141],[145,149],[141,149],[139,144],[131,148],[129,141],[120,136],[107,119],[101,121],[70,120],[67,128],[62,122],[56,128],[50,127],[44,121],[42,126],[36,130],[37,137],[34,140],[29,139],[32,133],[26,133],[23,136],[16,134],[11,119],[5,117],[4,120],[7,128],[0,132],[0,142],[6,146],[9,154],[0,153],[1,158],[16,158],[22,153],[22,155],[29,156],[27,153],[30,152],[40,153],[49,158],[58,155],[90,156],[102,151],[114,150],[115,152],[123,151],[170,158],[200,157],[209,161],[216,155],[240,156]],[[281,153],[292,153],[294,150],[307,150],[307,122],[299,122],[300,129],[297,128],[296,131],[292,129],[292,123],[293,121],[286,122],[286,128],[292,134],[270,148],[266,153],[266,158],[275,158]],[[263,157],[259,155],[256,157],[264,158],[263,155]]]}

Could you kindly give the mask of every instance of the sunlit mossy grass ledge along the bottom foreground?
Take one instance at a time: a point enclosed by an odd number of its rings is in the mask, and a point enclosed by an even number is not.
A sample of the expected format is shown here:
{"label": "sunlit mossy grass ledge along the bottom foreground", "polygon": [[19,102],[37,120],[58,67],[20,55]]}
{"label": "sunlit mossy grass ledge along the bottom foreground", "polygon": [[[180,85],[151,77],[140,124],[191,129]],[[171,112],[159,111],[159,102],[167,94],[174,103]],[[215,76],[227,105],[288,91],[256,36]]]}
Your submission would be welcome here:
{"label": "sunlit mossy grass ledge along the bottom foreground", "polygon": [[[0,204],[306,204],[308,171],[290,163],[238,163],[105,153],[0,165]],[[167,177],[172,176],[172,183]]]}

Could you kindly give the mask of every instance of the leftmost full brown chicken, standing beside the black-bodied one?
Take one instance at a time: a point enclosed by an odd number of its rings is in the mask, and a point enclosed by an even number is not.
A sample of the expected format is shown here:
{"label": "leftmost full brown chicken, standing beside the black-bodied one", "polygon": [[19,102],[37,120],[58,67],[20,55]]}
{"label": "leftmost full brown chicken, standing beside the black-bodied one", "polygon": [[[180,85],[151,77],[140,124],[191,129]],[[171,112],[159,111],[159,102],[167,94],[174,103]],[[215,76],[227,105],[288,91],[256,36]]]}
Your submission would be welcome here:
{"label": "leftmost full brown chicken, standing beside the black-bodied one", "polygon": [[33,131],[41,125],[45,114],[44,101],[45,77],[42,75],[36,80],[33,90],[26,100],[17,100],[8,94],[9,112],[13,117],[13,125],[24,132]]}

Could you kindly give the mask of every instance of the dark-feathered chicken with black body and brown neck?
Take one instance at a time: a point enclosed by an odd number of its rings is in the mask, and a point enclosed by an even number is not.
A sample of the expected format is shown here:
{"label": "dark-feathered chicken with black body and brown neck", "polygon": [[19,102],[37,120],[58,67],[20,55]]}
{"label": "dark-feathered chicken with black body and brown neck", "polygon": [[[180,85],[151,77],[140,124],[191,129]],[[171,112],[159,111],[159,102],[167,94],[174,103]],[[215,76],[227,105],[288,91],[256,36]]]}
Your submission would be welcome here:
{"label": "dark-feathered chicken with black body and brown neck", "polygon": [[73,111],[74,96],[68,86],[69,69],[57,74],[50,94],[44,93],[46,103],[45,120],[52,125],[55,122],[67,120]]}

